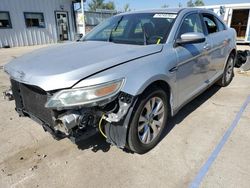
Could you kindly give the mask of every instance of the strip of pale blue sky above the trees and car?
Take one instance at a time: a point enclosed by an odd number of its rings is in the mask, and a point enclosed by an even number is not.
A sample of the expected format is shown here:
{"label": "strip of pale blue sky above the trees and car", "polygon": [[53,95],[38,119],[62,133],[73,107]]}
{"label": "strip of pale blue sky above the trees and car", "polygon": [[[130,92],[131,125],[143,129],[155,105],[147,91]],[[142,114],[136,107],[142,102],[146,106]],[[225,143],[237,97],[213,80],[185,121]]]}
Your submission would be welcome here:
{"label": "strip of pale blue sky above the trees and car", "polygon": [[[87,3],[91,0],[87,0]],[[105,0],[105,2],[114,1],[116,9],[122,11],[124,5],[128,3],[131,10],[161,8],[163,5],[169,7],[178,7],[179,3],[186,6],[187,0]],[[203,0],[205,5],[232,4],[232,3],[249,3],[249,0]],[[86,8],[88,6],[86,5]]]}

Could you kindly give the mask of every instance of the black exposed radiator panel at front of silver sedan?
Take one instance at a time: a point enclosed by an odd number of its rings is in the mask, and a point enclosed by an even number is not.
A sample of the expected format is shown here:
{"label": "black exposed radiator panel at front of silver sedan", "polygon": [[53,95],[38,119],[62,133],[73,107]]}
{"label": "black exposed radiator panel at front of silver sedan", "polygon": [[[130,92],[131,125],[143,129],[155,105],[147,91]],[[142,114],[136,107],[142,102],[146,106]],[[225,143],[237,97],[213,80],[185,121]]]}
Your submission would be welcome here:
{"label": "black exposed radiator panel at front of silver sedan", "polygon": [[45,91],[15,80],[11,80],[11,85],[18,112],[25,112],[28,115],[37,117],[50,126],[53,125],[52,111],[44,107],[47,101]]}

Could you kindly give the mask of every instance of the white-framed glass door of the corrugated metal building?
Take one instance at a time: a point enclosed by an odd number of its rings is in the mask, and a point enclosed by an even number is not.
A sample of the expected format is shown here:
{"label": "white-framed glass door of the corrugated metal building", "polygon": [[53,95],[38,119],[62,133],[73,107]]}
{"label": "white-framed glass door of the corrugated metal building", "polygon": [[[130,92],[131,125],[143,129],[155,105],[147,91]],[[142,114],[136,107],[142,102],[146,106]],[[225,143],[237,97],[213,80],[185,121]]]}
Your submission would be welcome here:
{"label": "white-framed glass door of the corrugated metal building", "polygon": [[57,37],[59,41],[69,40],[69,23],[67,12],[56,12]]}

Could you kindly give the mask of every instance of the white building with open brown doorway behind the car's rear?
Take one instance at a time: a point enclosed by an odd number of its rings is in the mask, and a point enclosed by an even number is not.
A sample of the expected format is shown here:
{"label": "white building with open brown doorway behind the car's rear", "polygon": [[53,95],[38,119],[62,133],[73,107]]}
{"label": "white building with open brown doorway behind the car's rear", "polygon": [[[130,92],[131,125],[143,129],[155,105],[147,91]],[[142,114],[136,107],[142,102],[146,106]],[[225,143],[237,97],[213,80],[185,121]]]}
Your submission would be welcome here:
{"label": "white building with open brown doorway behind the car's rear", "polygon": [[201,8],[213,10],[224,22],[236,30],[237,42],[250,43],[250,3],[211,5]]}

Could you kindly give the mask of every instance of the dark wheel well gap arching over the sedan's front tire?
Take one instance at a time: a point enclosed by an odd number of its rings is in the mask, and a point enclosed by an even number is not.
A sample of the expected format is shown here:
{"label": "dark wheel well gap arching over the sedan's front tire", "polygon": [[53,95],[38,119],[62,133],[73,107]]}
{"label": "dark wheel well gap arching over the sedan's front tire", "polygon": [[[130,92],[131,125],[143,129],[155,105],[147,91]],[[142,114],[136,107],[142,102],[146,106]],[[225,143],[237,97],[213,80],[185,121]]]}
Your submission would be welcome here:
{"label": "dark wheel well gap arching over the sedan's front tire", "polygon": [[152,88],[152,87],[158,87],[158,88],[161,88],[163,91],[166,92],[167,94],[167,97],[168,97],[168,115],[171,116],[172,115],[172,110],[171,110],[171,105],[170,105],[170,97],[171,97],[171,88],[169,86],[169,84],[163,80],[157,80],[157,81],[154,81],[153,83],[151,83],[150,85],[148,85],[146,87],[146,89],[143,91],[146,92],[149,88]]}

